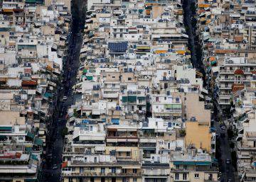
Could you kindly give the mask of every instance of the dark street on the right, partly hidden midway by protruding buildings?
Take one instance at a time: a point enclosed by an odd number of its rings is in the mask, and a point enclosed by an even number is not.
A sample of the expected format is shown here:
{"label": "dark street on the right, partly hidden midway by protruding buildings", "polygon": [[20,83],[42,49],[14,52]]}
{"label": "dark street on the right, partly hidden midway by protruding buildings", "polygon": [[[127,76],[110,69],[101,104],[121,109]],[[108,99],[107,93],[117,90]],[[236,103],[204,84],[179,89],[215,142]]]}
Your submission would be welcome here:
{"label": "dark street on the right, partly hidden midway by protruding buildings", "polygon": [[[186,27],[186,31],[188,34],[188,41],[189,41],[189,49],[191,50],[191,63],[193,64],[193,67],[195,67],[198,71],[204,73],[203,69],[203,62],[202,62],[202,53],[201,53],[201,47],[198,43],[198,35],[196,35],[196,25],[193,25],[194,18],[193,16],[196,15],[196,8],[193,7],[196,0],[188,0],[183,1],[183,11],[184,11],[184,24]],[[204,81],[206,83],[206,80]],[[210,93],[210,91],[209,91]],[[213,113],[213,120],[214,125],[213,127],[216,128],[216,134],[218,135],[218,142],[219,144],[216,145],[216,152],[220,154],[219,161],[219,169],[220,169],[220,182],[224,181],[235,181],[235,169],[232,166],[231,162],[231,154],[230,154],[230,147],[228,142],[228,135],[227,130],[220,129],[220,118],[222,118],[222,115],[220,115],[220,109],[217,107],[218,103],[216,101],[213,101],[214,103],[214,113]],[[222,136],[222,137],[220,137]],[[227,161],[228,159],[228,161]]]}

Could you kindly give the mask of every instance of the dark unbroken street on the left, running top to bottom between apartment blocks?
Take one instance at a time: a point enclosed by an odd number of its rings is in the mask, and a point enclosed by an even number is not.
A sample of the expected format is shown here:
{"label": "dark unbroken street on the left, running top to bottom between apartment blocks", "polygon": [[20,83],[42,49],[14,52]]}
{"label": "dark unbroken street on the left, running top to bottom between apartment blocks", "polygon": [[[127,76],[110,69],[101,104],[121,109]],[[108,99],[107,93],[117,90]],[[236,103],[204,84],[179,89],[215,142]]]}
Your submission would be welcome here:
{"label": "dark unbroken street on the left, running top to bottom between apartment blocks", "polygon": [[[82,15],[85,8],[82,0],[74,0],[72,6],[72,28],[68,44],[68,56],[63,61],[63,83],[59,86],[58,104],[53,112],[53,123],[48,128],[46,155],[42,164],[40,181],[60,181],[62,152],[63,152],[63,129],[65,129],[65,116],[68,107],[74,102],[72,87],[76,83],[76,74],[80,66],[80,47],[82,44]],[[67,97],[63,101],[63,97]]]}

